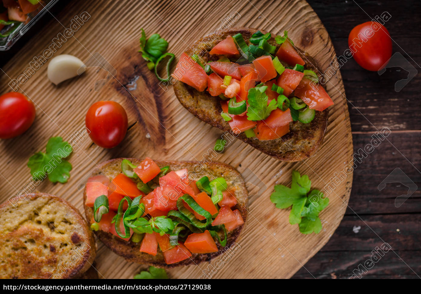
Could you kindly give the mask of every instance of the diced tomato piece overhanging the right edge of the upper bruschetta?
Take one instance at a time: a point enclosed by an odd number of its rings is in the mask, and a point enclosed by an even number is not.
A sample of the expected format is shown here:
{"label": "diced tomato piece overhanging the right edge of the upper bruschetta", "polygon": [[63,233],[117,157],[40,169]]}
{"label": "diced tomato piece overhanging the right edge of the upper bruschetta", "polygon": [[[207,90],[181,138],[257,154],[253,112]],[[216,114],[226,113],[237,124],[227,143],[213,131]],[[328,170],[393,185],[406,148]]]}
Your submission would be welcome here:
{"label": "diced tomato piece overhanging the right edge of the upper bruschetta", "polygon": [[333,101],[325,89],[321,85],[313,83],[306,78],[301,80],[294,94],[302,99],[309,108],[314,110],[323,111],[330,105],[333,105]]}

